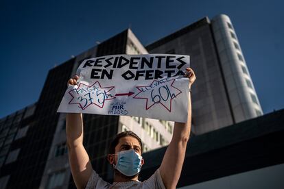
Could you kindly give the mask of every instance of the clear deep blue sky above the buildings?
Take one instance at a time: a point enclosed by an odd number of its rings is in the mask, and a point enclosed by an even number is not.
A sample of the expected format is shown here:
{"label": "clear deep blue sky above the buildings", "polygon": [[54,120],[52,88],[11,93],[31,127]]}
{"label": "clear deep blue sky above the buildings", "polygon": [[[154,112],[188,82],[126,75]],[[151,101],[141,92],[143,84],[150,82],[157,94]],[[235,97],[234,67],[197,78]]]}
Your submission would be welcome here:
{"label": "clear deep blue sky above the buildings", "polygon": [[0,118],[38,100],[49,69],[131,27],[143,45],[227,14],[264,113],[284,108],[283,1],[0,1]]}

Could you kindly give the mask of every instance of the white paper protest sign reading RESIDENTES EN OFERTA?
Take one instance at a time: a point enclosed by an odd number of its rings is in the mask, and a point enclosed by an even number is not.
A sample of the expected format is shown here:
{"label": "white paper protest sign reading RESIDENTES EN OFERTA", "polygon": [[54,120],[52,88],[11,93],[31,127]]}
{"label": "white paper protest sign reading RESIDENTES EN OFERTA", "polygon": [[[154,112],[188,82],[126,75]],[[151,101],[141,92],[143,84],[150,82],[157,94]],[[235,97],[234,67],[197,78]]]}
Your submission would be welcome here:
{"label": "white paper protest sign reading RESIDENTES EN OFERTA", "polygon": [[84,60],[58,112],[187,122],[189,55],[106,55]]}

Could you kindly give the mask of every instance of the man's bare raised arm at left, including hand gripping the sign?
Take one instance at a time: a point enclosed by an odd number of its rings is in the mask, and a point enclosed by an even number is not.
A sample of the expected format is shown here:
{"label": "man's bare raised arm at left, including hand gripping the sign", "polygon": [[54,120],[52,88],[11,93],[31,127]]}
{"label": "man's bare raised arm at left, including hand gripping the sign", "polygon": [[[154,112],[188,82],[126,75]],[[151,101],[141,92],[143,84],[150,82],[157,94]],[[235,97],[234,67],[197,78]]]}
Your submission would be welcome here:
{"label": "man's bare raised arm at left, including hand gripping the sign", "polygon": [[[76,85],[78,76],[69,79],[68,84]],[[85,188],[92,173],[92,165],[83,146],[82,114],[67,114],[66,122],[67,147],[69,164],[77,188]]]}

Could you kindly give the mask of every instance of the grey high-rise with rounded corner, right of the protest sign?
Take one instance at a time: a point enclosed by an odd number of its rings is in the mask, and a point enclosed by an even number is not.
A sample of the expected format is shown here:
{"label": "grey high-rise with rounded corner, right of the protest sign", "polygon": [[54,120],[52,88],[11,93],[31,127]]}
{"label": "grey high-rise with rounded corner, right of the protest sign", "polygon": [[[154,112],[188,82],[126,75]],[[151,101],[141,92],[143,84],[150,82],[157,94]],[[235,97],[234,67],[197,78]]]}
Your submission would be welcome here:
{"label": "grey high-rise with rounded corner, right of the protest sign", "polygon": [[230,18],[202,18],[147,45],[149,53],[191,56],[193,134],[204,134],[263,114]]}

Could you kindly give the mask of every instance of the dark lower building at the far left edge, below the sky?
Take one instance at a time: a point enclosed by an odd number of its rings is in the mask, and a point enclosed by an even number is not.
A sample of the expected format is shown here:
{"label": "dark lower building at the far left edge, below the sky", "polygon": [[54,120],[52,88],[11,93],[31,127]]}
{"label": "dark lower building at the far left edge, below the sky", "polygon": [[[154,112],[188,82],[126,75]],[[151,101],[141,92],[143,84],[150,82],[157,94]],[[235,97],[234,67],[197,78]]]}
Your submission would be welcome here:
{"label": "dark lower building at the far left edge, below the sky", "polygon": [[19,157],[25,153],[22,144],[27,140],[28,129],[34,126],[35,109],[36,103],[0,120],[0,188],[14,179],[12,173],[23,163]]}

